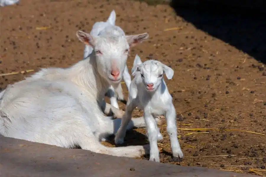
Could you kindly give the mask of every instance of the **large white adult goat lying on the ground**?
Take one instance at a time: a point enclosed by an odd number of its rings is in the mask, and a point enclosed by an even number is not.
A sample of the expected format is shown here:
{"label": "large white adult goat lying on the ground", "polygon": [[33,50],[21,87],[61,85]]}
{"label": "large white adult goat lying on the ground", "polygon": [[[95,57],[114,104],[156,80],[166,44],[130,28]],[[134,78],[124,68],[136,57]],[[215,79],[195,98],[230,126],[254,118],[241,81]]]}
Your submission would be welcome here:
{"label": "large white adult goat lying on the ground", "polygon": [[[129,47],[148,37],[93,37],[77,31],[78,39],[93,47],[89,60],[69,68],[46,68],[23,81],[7,86],[0,93],[0,134],[60,147],[79,145],[82,149],[114,156],[140,157],[149,145],[108,148],[102,138],[114,134],[121,119],[103,114],[112,108],[102,104],[110,85],[121,81]],[[115,108],[116,109],[116,108]],[[159,120],[158,120],[159,121]],[[145,127],[143,117],[132,119],[127,129]]]}

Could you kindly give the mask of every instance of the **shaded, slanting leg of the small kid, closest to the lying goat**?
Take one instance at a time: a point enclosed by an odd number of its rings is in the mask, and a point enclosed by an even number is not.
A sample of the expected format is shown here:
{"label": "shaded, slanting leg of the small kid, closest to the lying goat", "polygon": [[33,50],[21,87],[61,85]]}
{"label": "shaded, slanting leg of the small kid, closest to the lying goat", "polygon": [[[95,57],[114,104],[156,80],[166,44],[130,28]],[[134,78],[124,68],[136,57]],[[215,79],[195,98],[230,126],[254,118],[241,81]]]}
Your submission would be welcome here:
{"label": "shaded, slanting leg of the small kid, closest to the lying goat", "polygon": [[126,111],[121,120],[121,126],[119,127],[115,135],[115,143],[123,144],[124,138],[126,136],[126,127],[128,126],[130,120],[132,119],[132,112],[136,108],[134,100],[128,99],[126,103]]}

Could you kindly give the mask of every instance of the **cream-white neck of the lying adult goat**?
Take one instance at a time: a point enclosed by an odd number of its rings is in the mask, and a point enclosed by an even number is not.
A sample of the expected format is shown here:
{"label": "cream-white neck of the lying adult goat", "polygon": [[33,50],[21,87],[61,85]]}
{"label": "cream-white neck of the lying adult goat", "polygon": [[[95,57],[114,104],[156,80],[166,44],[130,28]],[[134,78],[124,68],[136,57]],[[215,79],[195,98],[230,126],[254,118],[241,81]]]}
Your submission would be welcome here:
{"label": "cream-white neck of the lying adult goat", "polygon": [[110,84],[100,76],[97,70],[97,63],[94,53],[85,60],[81,60],[72,67],[69,76],[79,86],[85,88],[91,95],[101,101]]}

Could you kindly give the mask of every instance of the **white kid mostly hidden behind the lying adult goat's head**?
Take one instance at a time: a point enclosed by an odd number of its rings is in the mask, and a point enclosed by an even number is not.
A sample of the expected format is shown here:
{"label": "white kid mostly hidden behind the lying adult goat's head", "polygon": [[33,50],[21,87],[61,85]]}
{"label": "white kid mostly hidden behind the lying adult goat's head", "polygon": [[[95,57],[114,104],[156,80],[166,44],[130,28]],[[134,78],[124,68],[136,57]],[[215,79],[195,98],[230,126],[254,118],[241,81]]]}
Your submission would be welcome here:
{"label": "white kid mostly hidden behind the lying adult goat's head", "polygon": [[[92,36],[99,36],[99,35],[125,36],[124,31],[119,26],[115,25],[115,21],[116,21],[116,13],[113,10],[106,22],[96,22],[93,25],[90,35]],[[83,59],[86,59],[92,52],[93,52],[93,48],[90,45],[85,45]],[[125,67],[125,70],[123,73],[123,79],[126,83],[127,89],[129,90],[129,86],[131,83],[131,77],[130,77],[127,66]],[[119,109],[119,105],[117,103],[116,98],[118,97],[119,100],[124,99],[121,83],[119,83],[116,89],[114,89],[113,86],[110,86],[110,88],[107,91],[107,96],[110,97],[111,105]]]}

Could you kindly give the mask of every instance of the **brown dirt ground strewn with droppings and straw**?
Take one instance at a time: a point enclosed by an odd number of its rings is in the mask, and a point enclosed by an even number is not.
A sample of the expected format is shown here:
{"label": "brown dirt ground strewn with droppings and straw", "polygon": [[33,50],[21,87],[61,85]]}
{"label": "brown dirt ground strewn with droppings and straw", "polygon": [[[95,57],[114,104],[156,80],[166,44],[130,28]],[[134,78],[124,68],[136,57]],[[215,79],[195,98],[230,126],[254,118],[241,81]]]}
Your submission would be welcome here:
{"label": "brown dirt ground strewn with droppings and straw", "polygon": [[[162,125],[161,162],[266,175],[264,63],[197,29],[168,5],[128,0],[21,0],[18,5],[1,7],[1,74],[34,70],[30,75],[39,68],[78,62],[84,45],[75,32],[90,32],[113,9],[116,24],[127,34],[150,35],[132,48],[129,70],[138,54],[142,61],[157,59],[175,71],[166,83],[176,108],[184,158],[171,157],[166,125]],[[5,89],[24,77],[1,76],[0,87]],[[125,84],[123,89],[126,97]],[[134,111],[134,116],[139,115],[141,111]],[[144,134],[145,129],[128,132],[124,145],[147,144]],[[113,142],[104,144],[114,146]]]}

